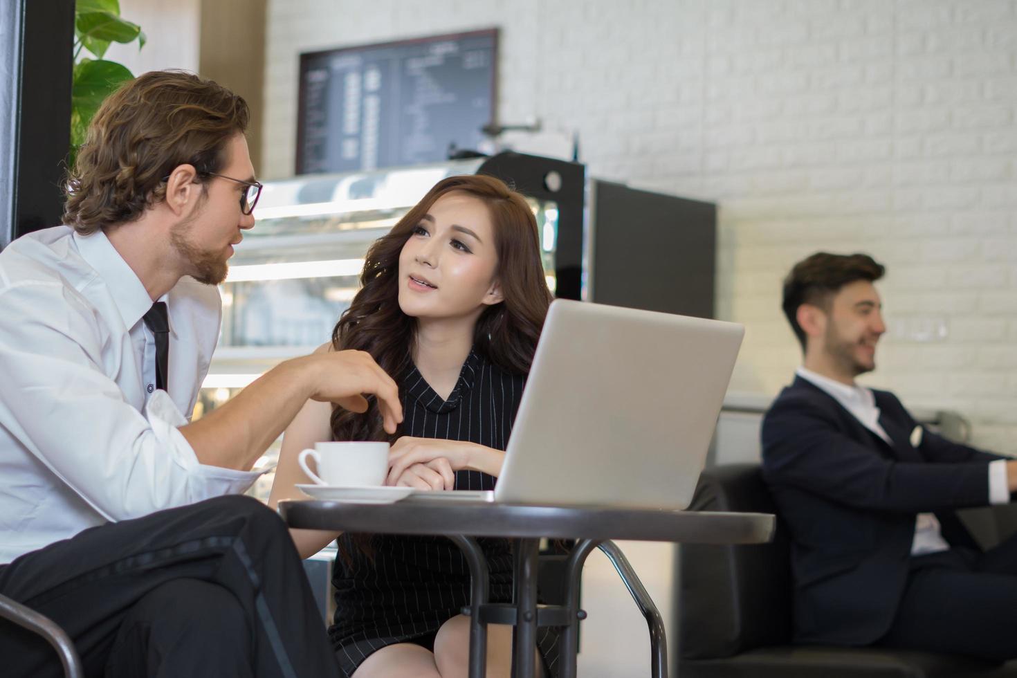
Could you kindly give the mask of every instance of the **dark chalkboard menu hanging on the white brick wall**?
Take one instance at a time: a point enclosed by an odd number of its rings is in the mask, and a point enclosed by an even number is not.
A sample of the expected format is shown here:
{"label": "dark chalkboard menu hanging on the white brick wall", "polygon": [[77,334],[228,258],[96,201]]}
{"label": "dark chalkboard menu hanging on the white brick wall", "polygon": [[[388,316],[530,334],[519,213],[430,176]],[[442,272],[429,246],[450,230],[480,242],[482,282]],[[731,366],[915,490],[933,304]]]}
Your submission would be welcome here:
{"label": "dark chalkboard menu hanging on the white brick wall", "polygon": [[494,121],[497,29],[300,55],[297,174],[435,163]]}

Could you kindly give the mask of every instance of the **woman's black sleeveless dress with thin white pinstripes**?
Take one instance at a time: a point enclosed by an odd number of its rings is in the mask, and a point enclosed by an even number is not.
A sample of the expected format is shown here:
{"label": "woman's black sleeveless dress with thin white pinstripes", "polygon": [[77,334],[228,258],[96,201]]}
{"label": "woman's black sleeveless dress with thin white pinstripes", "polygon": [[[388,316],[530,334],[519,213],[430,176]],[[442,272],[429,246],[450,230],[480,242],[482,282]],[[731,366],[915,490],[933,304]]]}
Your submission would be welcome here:
{"label": "woman's black sleeveless dress with thin white pinstripes", "polygon": [[[519,410],[525,378],[507,374],[476,352],[463,364],[447,400],[434,392],[416,367],[399,379],[403,434],[468,440],[504,449]],[[492,490],[495,479],[479,471],[456,472],[457,490]],[[512,601],[513,557],[501,539],[478,540],[490,566],[490,600]],[[375,535],[373,560],[349,535],[339,539],[336,559],[336,619],[328,629],[343,675],[351,676],[368,655],[397,642],[433,651],[438,628],[470,602],[470,569],[444,537]],[[556,629],[541,628],[538,645],[549,675],[556,675]]]}

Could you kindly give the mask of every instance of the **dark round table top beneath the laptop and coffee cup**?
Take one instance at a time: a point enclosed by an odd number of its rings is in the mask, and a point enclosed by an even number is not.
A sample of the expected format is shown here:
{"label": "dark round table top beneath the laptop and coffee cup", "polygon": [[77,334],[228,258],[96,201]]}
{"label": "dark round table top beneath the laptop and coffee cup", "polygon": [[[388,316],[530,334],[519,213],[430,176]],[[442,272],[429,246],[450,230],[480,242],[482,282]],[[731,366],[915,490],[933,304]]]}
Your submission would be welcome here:
{"label": "dark round table top beneath the laptop and coffee cup", "polygon": [[533,506],[490,502],[397,501],[357,504],[281,501],[291,528],[394,535],[636,540],[761,544],[773,538],[770,513]]}

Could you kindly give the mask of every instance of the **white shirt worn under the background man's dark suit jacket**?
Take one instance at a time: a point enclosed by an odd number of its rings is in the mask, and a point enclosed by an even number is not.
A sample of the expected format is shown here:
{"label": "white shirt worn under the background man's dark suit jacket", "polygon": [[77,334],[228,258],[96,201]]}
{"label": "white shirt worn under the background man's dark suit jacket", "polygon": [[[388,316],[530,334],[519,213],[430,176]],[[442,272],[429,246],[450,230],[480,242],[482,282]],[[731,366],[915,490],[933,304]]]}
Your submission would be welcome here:
{"label": "white shirt worn under the background man's dark suit jacket", "polygon": [[[854,416],[866,429],[883,438],[889,445],[893,441],[887,432],[880,425],[880,409],[876,407],[876,396],[873,391],[863,386],[848,386],[839,381],[835,381],[817,372],[799,367],[797,375],[805,379],[815,386],[826,391],[831,397]],[[920,441],[921,431],[917,431],[915,436]],[[910,441],[912,445],[917,443]],[[989,463],[989,497],[994,504],[1005,504],[1010,501],[1010,492],[1007,489],[1007,463],[1006,459],[997,459]],[[926,553],[937,553],[946,551],[950,544],[943,539],[940,521],[934,513],[918,513],[915,516],[914,540],[911,542],[911,555],[920,556]]]}

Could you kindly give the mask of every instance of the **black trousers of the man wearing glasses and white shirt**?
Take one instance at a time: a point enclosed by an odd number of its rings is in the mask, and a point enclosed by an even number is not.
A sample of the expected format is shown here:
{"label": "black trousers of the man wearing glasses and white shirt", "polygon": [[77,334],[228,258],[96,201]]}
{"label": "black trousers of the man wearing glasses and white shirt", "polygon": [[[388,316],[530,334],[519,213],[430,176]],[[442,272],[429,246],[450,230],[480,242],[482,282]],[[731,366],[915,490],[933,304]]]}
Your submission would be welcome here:
{"label": "black trousers of the man wearing glasses and white shirt", "polygon": [[[0,567],[0,593],[62,626],[88,676],[339,675],[286,525],[248,497],[85,530]],[[44,639],[6,622],[0,663],[62,675]]]}

